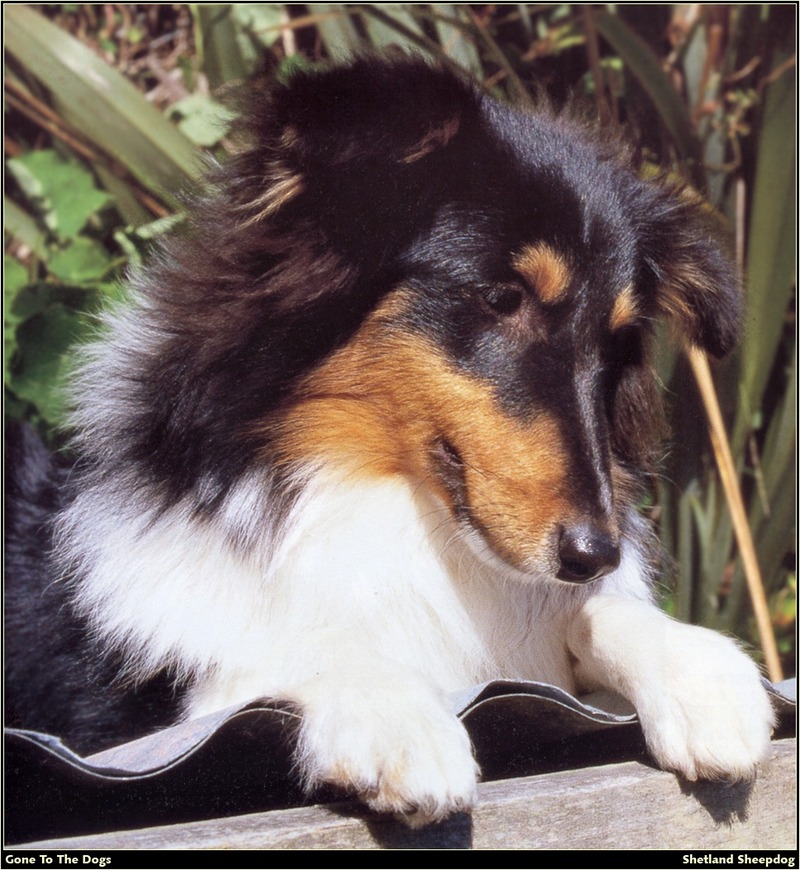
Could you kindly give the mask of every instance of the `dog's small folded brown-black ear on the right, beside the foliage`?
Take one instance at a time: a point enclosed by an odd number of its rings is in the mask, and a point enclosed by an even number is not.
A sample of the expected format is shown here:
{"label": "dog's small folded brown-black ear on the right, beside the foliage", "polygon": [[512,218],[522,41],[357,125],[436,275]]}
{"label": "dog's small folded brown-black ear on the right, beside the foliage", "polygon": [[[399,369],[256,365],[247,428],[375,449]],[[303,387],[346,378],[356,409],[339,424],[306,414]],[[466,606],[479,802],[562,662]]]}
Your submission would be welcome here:
{"label": "dog's small folded brown-black ear on the right, beside the foliage", "polygon": [[644,224],[659,309],[693,344],[724,356],[736,344],[744,296],[719,219],[698,197],[665,190]]}

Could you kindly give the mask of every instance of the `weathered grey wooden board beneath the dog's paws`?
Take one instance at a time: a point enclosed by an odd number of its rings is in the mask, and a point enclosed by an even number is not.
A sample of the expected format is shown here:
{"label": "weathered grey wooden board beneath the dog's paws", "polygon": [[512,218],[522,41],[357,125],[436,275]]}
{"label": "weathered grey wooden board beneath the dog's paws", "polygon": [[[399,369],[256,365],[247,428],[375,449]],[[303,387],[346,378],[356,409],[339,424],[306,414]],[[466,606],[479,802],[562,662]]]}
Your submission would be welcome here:
{"label": "weathered grey wooden board beneath the dog's paws", "polygon": [[796,742],[752,786],[685,783],[638,762],[479,787],[472,816],[409,831],[353,804],[29,843],[36,849],[795,849]]}

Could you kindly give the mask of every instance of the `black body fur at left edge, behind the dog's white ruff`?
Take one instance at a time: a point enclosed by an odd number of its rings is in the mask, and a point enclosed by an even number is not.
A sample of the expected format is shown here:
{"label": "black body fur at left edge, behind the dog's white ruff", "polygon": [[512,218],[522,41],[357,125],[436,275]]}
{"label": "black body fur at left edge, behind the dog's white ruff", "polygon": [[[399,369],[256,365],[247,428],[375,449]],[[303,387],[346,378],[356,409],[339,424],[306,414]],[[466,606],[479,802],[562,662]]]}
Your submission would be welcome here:
{"label": "black body fur at left edge, behind the dog's white ruff", "polygon": [[98,752],[175,720],[180,689],[167,675],[121,686],[76,616],[51,560],[52,520],[69,468],[27,426],[7,427],[5,456],[5,723]]}

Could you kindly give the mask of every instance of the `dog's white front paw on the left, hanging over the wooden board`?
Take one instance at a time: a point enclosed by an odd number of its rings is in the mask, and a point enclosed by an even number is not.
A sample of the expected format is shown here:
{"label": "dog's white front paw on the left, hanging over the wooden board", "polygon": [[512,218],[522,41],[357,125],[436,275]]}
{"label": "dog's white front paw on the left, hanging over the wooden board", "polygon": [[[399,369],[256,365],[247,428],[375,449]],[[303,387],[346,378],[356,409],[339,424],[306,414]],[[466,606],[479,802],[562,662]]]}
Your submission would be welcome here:
{"label": "dog's white front paw on the left, hanging over the wooden board", "polygon": [[309,786],[356,793],[417,828],[470,810],[478,767],[464,727],[428,686],[303,692],[298,758]]}

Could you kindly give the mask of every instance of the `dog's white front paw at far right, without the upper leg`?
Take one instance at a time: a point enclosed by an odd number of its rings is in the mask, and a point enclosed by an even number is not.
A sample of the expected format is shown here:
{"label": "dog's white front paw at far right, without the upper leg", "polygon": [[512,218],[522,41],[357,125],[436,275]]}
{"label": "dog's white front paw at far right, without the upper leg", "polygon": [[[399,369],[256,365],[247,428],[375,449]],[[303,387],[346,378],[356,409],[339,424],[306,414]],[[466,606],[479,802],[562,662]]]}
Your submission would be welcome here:
{"label": "dog's white front paw at far right, without the upper leg", "polygon": [[670,623],[662,680],[637,693],[648,748],[690,780],[748,780],[769,745],[774,713],[755,664],[729,638]]}

